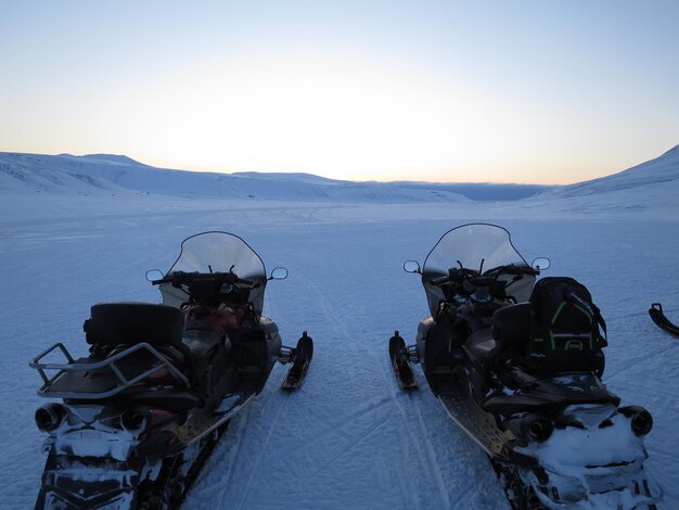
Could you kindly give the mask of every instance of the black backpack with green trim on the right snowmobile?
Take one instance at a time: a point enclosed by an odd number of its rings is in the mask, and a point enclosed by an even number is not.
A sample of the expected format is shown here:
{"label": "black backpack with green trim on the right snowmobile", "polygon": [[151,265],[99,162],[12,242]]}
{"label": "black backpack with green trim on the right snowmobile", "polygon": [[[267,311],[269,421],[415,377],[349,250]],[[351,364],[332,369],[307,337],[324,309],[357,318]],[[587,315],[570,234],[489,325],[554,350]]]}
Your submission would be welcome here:
{"label": "black backpack with green trim on the right snowmobile", "polygon": [[[542,278],[533,288],[530,340],[525,360],[549,372],[592,371],[601,375],[606,323],[585,285],[567,277]],[[603,331],[603,336],[600,332]]]}

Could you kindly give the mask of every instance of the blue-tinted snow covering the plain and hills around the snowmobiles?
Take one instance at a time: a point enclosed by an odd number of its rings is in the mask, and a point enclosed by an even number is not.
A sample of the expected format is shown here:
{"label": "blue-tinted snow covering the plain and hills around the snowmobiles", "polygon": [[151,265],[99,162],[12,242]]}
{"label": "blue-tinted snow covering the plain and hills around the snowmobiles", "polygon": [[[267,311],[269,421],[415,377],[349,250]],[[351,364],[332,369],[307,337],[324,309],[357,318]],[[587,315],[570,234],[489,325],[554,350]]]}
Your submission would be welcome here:
{"label": "blue-tinted snow covering the plain and hills around the snowmobiles", "polygon": [[481,449],[425,386],[400,393],[387,356],[393,331],[412,342],[427,314],[402,262],[422,263],[454,226],[487,221],[505,227],[526,259],[549,256],[547,276],[588,285],[608,327],[603,380],[623,405],[653,415],[646,469],[665,492],[661,508],[678,508],[679,342],[646,309],[662,302],[679,320],[679,151],[578,186],[489,203],[396,184],[0,153],[0,501],[31,507],[46,459],[29,358],[57,341],[85,354],[92,304],[158,302],[145,271],[167,269],[184,238],[225,230],[268,268],[287,267],[287,280],[267,286],[265,314],[287,345],[308,330],[315,357],[295,394],[279,391],[286,367],[274,369],[187,508],[507,508]]}

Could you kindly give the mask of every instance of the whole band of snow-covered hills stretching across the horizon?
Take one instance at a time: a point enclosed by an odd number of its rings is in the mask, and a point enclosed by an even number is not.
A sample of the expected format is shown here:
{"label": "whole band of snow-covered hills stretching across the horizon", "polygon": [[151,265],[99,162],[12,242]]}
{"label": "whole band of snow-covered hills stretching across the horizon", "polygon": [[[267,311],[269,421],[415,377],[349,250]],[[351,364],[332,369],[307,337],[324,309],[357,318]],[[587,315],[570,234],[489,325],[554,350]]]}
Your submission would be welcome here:
{"label": "whole band of snow-covered hills stretching across the horizon", "polygon": [[[43,155],[0,152],[0,192],[153,193],[188,199],[254,199],[346,203],[427,203],[571,200],[628,193],[629,207],[650,200],[676,203],[679,145],[612,176],[565,187],[497,183],[354,182],[305,173],[206,171],[156,168],[125,155]],[[672,195],[674,193],[674,195]],[[636,204],[636,205],[635,205]],[[670,205],[671,205],[670,204]]]}

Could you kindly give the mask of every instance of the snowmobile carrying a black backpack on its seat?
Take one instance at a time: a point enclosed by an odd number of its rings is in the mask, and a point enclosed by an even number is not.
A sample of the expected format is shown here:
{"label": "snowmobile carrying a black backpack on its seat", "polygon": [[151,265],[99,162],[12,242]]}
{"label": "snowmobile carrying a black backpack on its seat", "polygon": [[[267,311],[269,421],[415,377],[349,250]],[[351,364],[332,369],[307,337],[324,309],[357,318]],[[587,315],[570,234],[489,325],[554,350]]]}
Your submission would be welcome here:
{"label": "snowmobile carrying a black backpack on its seat", "polygon": [[448,231],[422,268],[406,262],[431,317],[413,345],[390,339],[396,380],[417,390],[421,365],[512,508],[654,508],[662,490],[643,469],[652,417],[602,383],[605,322],[576,280],[536,283],[550,264],[528,265],[509,231],[486,224]]}

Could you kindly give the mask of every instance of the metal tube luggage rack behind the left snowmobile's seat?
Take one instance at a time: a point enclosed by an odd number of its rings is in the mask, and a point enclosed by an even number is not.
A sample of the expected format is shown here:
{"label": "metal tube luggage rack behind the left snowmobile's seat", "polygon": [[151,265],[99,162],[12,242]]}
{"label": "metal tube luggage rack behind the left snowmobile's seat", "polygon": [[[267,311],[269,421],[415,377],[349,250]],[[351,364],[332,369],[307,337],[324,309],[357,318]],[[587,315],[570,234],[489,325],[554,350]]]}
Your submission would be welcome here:
{"label": "metal tube luggage rack behind the left snowmobile's seat", "polygon": [[[51,354],[52,352],[56,349],[60,349],[62,352],[62,354],[67,360],[67,364],[41,362],[42,358],[44,358],[46,356],[48,356],[49,354]],[[132,377],[131,379],[128,379],[123,374],[120,368],[116,365],[116,362],[123,358],[127,358],[128,356],[130,356],[133,353],[137,353],[138,350],[146,350],[159,361],[159,365],[154,365],[150,369],[144,370],[142,373],[139,373]],[[155,348],[153,348],[150,344],[145,342],[132,345],[131,347],[120,353],[117,353],[111,356],[110,358],[106,358],[102,361],[97,361],[93,364],[79,362],[79,360],[76,360],[73,356],[71,356],[71,353],[68,353],[68,349],[66,349],[64,344],[59,342],[52,345],[50,348],[40,353],[34,359],[31,359],[28,366],[30,368],[35,368],[38,371],[38,373],[40,373],[40,377],[42,378],[43,384],[38,390],[38,395],[41,397],[81,398],[81,399],[92,399],[92,400],[100,399],[100,398],[108,398],[114,395],[118,395],[119,393],[129,388],[131,385],[138,383],[139,381],[148,378],[155,371],[159,370],[161,368],[166,368],[177,381],[181,381],[187,385],[190,384],[189,379],[183,373],[181,373],[181,371],[179,371],[177,367],[175,367],[165,356],[163,356],[161,353],[158,353],[158,350],[156,350]],[[44,372],[46,370],[57,370],[57,372],[52,378],[50,378]],[[104,375],[114,374],[115,379],[114,378],[111,378],[111,379],[115,382],[116,385],[115,387],[111,390],[106,390],[106,391],[89,391],[88,392],[88,391],[81,391],[81,390],[74,391],[71,387],[68,387],[69,384],[67,382],[64,383],[64,380],[68,379],[69,377],[74,379],[76,378],[76,374],[80,374],[85,377],[87,372],[100,372],[100,373],[103,373]],[[63,383],[63,384],[60,384],[60,383]],[[63,386],[63,388],[61,388],[60,386]],[[82,387],[82,386],[84,385],[79,385],[79,387]],[[68,391],[68,390],[72,390],[72,391]]]}

